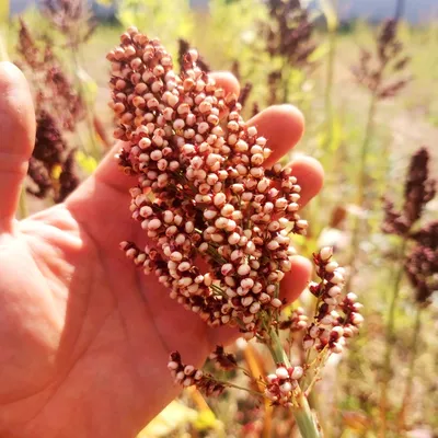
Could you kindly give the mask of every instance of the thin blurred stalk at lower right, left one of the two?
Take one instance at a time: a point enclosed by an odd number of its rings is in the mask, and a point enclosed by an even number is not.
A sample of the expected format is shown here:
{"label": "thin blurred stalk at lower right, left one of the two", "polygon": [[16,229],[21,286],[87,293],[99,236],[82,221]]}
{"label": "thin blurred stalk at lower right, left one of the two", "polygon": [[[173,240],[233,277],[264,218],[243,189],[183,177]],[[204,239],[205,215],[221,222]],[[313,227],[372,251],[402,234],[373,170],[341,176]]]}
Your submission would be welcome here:
{"label": "thin blurred stalk at lower right, left one of the two", "polygon": [[[404,238],[402,245],[400,247],[400,253],[397,261],[403,260],[403,255],[406,249],[407,239]],[[395,276],[394,289],[392,292],[392,299],[390,303],[388,324],[387,324],[387,333],[385,333],[385,353],[384,353],[384,361],[383,361],[383,381],[382,381],[382,392],[380,397],[380,417],[381,417],[381,430],[380,436],[387,436],[387,405],[388,405],[388,384],[391,377],[391,356],[392,349],[394,347],[394,326],[395,326],[395,309],[399,301],[400,296],[400,285],[403,278],[404,266],[401,263],[399,266],[399,270]]]}

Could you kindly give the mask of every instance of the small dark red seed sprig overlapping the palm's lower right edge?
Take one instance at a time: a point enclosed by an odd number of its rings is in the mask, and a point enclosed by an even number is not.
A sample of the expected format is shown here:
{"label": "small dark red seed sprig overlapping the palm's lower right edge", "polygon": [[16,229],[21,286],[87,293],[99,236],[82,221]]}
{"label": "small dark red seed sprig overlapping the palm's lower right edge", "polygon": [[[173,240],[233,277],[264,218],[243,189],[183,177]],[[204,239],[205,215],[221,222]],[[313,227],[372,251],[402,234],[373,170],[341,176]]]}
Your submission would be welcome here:
{"label": "small dark red seed sprig overlapping the palm's lower right edge", "polygon": [[175,383],[184,388],[195,385],[207,396],[220,395],[226,389],[224,384],[216,381],[212,376],[205,373],[193,365],[184,365],[181,361],[178,351],[171,353],[168,369],[171,371]]}

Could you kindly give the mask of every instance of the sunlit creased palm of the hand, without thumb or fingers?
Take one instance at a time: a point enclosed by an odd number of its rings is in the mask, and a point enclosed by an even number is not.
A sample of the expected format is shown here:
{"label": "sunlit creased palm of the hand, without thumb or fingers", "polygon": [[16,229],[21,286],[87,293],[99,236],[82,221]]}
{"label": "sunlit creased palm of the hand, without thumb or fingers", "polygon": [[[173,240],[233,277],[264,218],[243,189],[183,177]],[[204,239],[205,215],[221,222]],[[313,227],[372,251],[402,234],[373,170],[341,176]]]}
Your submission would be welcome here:
{"label": "sunlit creased palm of the hand, without thumb or fingers", "polygon": [[[45,427],[46,415],[60,419],[59,399],[70,396],[71,389],[81,408],[102,420],[100,430],[108,427],[114,434],[124,416],[131,420],[136,406],[141,406],[137,423],[143,423],[154,414],[146,415],[145,406],[161,405],[177,393],[165,369],[169,351],[178,348],[200,365],[215,344],[234,335],[208,328],[172,301],[155,277],[127,263],[118,250],[132,228],[126,210],[118,208],[126,194],[103,183],[95,189],[102,204],[111,199],[114,211],[73,197],[2,238],[0,319],[12,324],[1,354],[8,383],[0,400],[19,401],[4,414],[20,425],[30,422],[32,429]],[[157,387],[160,380],[165,383]],[[108,396],[119,402],[112,407],[119,416],[116,424],[96,418],[93,410]]]}

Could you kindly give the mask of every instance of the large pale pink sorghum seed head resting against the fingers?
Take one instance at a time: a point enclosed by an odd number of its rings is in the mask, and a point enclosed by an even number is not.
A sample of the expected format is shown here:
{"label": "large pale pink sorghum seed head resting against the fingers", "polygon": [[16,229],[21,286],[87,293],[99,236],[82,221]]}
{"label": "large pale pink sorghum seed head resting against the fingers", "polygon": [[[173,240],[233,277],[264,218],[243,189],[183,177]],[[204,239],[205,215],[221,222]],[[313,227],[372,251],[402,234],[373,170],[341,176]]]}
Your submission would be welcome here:
{"label": "large pale pink sorghum seed head resting against the fingers", "polygon": [[242,119],[237,96],[197,67],[196,50],[176,74],[160,42],[132,27],[108,59],[115,136],[126,141],[119,163],[138,178],[130,211],[153,242],[122,249],[208,324],[253,336],[261,311],[283,304],[289,233],[307,229],[296,177],[279,163],[264,168],[266,139]]}

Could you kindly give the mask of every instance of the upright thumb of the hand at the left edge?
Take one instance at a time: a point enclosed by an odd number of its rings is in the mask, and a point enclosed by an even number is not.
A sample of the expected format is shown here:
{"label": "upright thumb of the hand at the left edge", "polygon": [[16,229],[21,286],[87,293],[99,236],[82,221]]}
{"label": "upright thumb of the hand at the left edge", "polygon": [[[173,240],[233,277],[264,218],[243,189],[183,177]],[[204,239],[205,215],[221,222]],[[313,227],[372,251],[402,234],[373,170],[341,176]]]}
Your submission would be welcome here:
{"label": "upright thumb of the hand at the left edge", "polygon": [[10,232],[35,141],[35,112],[23,73],[0,62],[0,230]]}

